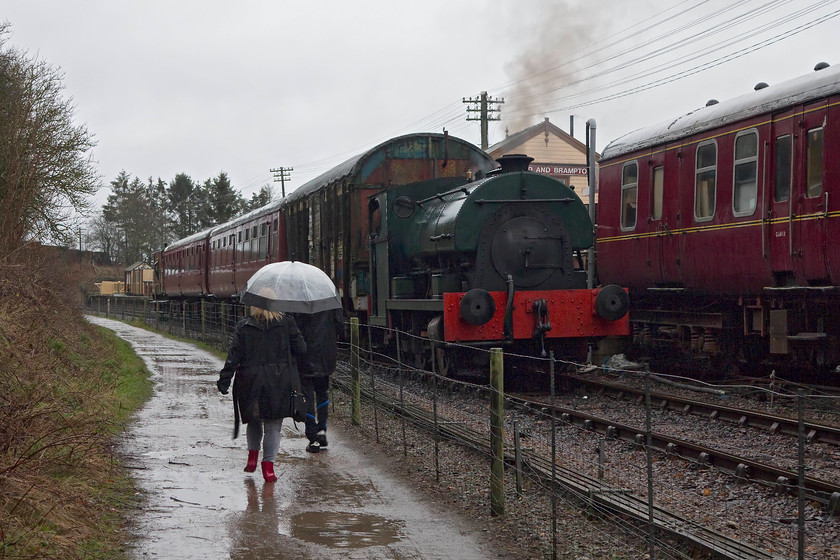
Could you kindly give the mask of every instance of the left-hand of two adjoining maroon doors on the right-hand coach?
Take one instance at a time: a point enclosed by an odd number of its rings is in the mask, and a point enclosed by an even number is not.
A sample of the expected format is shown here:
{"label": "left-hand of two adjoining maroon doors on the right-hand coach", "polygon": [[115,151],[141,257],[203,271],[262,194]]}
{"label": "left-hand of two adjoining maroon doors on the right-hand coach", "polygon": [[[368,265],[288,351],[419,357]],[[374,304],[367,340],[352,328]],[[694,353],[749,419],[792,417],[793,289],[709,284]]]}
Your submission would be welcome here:
{"label": "left-hand of two adjoining maroon doors on the right-hand coach", "polygon": [[797,116],[796,111],[773,115],[771,138],[762,147],[765,157],[761,173],[767,178],[767,187],[762,192],[761,211],[766,220],[762,244],[765,255],[769,252],[770,266],[779,286],[793,283],[793,216],[790,205]]}

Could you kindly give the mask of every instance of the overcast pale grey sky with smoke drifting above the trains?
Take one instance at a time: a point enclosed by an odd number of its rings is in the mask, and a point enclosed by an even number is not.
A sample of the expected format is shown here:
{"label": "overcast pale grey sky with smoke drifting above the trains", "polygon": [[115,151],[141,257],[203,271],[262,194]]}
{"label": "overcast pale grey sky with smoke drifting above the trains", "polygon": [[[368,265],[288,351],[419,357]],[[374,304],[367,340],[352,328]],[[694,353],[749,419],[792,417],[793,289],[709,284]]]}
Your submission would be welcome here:
{"label": "overcast pale grey sky with smoke drifting above the trains", "polygon": [[[4,0],[8,44],[60,68],[95,136],[103,188],[121,171],[250,197],[289,192],[393,136],[478,144],[464,98],[504,99],[490,143],[575,116],[596,147],[840,64],[838,0]],[[279,194],[279,184],[275,185]]]}

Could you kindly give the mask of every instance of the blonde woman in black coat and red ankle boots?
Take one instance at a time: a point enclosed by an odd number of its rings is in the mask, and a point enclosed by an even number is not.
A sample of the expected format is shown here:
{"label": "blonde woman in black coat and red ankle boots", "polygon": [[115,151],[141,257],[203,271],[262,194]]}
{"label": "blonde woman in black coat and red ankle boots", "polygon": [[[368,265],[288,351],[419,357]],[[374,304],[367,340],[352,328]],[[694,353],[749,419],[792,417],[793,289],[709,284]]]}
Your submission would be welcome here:
{"label": "blonde woman in black coat and red ankle boots", "polygon": [[292,354],[305,353],[306,342],[290,315],[251,306],[251,316],[239,321],[231,335],[227,360],[216,382],[226,395],[233,380],[233,437],[239,435],[241,418],[247,426],[245,472],[257,470],[262,444],[266,482],[277,480],[274,459],[280,448],[280,428],[283,419],[292,415],[292,391],[300,391]]}

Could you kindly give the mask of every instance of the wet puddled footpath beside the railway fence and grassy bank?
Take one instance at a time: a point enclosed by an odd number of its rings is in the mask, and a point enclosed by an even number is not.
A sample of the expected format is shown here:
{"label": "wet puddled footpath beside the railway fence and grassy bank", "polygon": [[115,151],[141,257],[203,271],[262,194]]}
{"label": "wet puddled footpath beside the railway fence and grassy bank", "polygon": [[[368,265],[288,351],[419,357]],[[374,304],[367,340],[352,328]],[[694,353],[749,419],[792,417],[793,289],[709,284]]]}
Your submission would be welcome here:
{"label": "wet puddled footpath beside the railway fence and grassy bank", "polygon": [[215,386],[221,360],[118,321],[89,320],[129,341],[155,382],[122,442],[147,496],[132,529],[135,558],[500,558],[480,531],[384,472],[376,451],[355,449],[335,426],[329,447],[311,454],[303,426],[287,419],[279,480],[244,473],[244,430],[231,438],[231,396]]}

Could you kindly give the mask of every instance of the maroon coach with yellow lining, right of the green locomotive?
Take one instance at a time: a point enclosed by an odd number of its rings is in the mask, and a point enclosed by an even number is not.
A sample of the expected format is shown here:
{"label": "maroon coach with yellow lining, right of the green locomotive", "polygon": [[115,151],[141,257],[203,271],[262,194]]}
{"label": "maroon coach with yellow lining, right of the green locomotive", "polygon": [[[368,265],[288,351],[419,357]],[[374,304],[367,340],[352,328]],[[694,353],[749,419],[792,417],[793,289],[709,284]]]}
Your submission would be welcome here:
{"label": "maroon coach with yellow lining, right of the green locomotive", "polygon": [[840,69],[632,132],[600,161],[598,271],[634,342],[694,357],[840,362]]}

